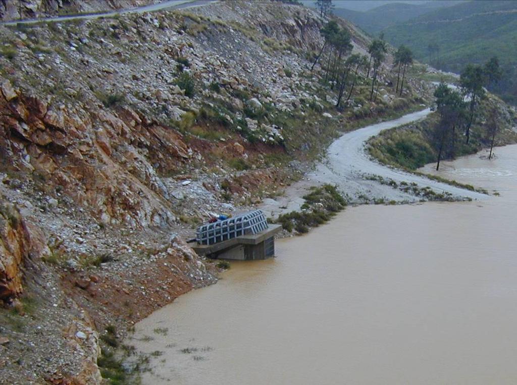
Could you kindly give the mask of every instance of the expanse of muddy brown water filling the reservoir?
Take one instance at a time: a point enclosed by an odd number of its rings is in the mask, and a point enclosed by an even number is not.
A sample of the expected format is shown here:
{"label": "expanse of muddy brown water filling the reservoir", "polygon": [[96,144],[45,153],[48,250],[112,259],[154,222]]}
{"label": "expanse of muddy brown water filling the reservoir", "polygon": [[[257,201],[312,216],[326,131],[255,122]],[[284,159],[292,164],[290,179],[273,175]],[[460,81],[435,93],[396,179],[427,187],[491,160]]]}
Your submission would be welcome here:
{"label": "expanse of muddy brown water filling the reservoir", "polygon": [[499,197],[347,208],[142,320],[144,384],[517,383],[517,146],[496,156],[439,175]]}

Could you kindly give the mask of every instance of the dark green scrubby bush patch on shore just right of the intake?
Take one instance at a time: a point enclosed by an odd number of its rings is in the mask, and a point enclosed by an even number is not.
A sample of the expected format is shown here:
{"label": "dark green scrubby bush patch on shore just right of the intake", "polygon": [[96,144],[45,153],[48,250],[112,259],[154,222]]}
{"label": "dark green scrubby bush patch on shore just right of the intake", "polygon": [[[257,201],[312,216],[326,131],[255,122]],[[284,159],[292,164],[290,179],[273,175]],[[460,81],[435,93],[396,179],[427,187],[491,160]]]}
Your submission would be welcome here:
{"label": "dark green scrubby bush patch on shore just right of the intake", "polygon": [[275,221],[281,224],[287,232],[291,233],[295,230],[299,234],[307,233],[310,227],[327,222],[346,206],[345,199],[337,188],[330,184],[311,188],[311,192],[303,199],[305,199],[305,203],[301,206],[302,211],[282,214]]}

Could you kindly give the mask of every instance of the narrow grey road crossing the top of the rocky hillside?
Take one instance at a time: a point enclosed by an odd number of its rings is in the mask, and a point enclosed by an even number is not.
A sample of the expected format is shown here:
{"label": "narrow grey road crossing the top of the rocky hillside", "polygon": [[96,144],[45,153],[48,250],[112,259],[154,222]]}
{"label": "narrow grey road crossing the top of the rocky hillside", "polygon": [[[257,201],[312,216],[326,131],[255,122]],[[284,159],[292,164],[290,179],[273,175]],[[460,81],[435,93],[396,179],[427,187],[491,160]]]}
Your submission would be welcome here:
{"label": "narrow grey road crossing the top of the rocky hillside", "polygon": [[16,24],[33,24],[40,22],[51,22],[51,21],[67,21],[77,19],[99,19],[116,16],[117,14],[123,13],[143,13],[143,12],[154,12],[163,9],[185,9],[192,7],[200,7],[209,3],[214,3],[219,0],[165,0],[158,4],[146,5],[143,7],[135,7],[130,9],[117,9],[109,12],[102,13],[90,13],[90,14],[75,14],[67,16],[56,16],[51,18],[39,18],[39,19],[25,19],[25,20],[10,20],[0,22],[2,25],[16,25]]}

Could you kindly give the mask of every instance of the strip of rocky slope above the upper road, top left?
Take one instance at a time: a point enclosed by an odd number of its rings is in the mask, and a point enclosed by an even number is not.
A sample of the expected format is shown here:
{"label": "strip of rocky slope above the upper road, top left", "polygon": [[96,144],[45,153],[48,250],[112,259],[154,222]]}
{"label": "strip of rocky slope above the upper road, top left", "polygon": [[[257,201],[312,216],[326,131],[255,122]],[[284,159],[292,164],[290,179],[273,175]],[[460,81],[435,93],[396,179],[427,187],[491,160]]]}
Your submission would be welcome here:
{"label": "strip of rocky slope above the upper road, top left", "polygon": [[141,7],[160,0],[0,0],[0,20],[35,19]]}

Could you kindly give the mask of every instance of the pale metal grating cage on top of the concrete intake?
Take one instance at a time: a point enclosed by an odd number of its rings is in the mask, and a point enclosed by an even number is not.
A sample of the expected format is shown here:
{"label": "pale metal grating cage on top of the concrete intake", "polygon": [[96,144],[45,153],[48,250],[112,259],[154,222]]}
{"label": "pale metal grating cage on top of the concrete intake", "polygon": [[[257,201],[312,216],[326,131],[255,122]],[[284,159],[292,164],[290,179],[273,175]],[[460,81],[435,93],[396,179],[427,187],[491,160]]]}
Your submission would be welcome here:
{"label": "pale metal grating cage on top of the concrete intake", "polygon": [[197,227],[198,244],[214,244],[246,234],[258,234],[267,229],[262,210],[254,210],[237,217]]}

